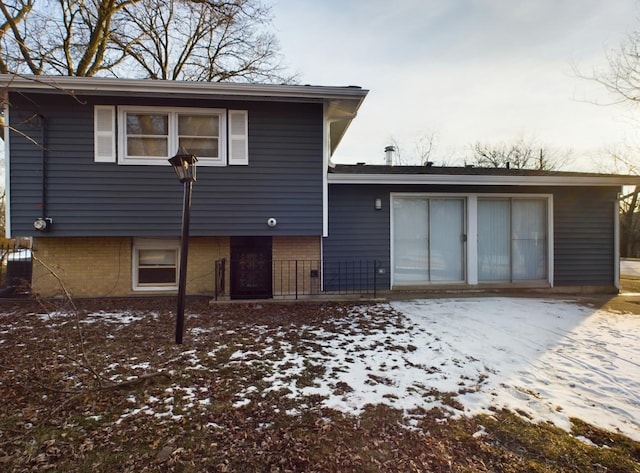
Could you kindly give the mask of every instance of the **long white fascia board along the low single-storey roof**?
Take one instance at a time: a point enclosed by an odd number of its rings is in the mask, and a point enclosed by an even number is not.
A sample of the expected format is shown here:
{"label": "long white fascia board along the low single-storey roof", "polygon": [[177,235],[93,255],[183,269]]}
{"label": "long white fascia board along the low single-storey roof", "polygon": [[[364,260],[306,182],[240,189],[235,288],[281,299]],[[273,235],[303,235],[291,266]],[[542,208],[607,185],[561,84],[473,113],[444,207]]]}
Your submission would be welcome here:
{"label": "long white fascia board along the low single-storey roof", "polygon": [[493,186],[627,186],[640,185],[640,176],[488,176],[452,174],[338,174],[329,184],[439,184]]}

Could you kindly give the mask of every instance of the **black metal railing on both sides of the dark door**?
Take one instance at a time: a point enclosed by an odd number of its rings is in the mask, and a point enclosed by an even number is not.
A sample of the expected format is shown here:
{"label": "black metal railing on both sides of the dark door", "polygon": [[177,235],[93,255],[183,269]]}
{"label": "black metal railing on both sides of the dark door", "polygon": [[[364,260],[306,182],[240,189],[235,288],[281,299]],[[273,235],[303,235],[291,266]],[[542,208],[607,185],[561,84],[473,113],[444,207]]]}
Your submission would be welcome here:
{"label": "black metal railing on both sides of the dark door", "polygon": [[[215,262],[215,298],[234,298],[227,291],[227,260]],[[376,260],[322,261],[276,260],[271,262],[270,285],[274,299],[299,299],[310,296],[360,295],[377,297],[388,287],[384,265]],[[242,291],[246,294],[246,290]]]}

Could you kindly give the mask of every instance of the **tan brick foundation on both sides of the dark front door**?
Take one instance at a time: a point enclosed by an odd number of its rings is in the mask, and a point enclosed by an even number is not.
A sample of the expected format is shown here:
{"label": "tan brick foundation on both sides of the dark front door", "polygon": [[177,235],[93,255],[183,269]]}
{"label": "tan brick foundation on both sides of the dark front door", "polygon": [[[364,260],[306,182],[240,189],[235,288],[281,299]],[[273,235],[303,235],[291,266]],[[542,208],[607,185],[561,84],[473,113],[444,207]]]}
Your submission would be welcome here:
{"label": "tan brick foundation on both sides of the dark front door", "polygon": [[[33,279],[35,293],[42,297],[123,297],[173,294],[175,291],[133,290],[133,238],[35,238]],[[320,290],[320,237],[274,237],[274,294]],[[187,266],[187,293],[212,295],[214,268],[227,260],[229,237],[191,237]],[[296,263],[297,272],[296,272]],[[55,273],[55,276],[52,274]],[[296,280],[296,274],[298,278]],[[225,286],[230,287],[229,270]],[[297,283],[297,286],[296,286]]]}

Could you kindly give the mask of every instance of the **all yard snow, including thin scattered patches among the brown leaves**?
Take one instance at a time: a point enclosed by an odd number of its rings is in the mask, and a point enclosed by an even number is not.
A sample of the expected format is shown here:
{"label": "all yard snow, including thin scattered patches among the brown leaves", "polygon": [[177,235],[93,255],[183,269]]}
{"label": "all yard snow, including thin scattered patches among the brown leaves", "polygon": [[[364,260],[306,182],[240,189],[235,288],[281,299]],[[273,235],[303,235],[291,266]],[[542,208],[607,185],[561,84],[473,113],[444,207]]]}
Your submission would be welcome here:
{"label": "all yard snow, including thin scattered patches among the brown leaves", "polygon": [[[318,310],[329,311],[327,317],[269,325],[251,323],[249,317],[222,334],[208,316],[192,313],[187,338],[193,345],[182,352],[181,365],[215,378],[229,368],[255,364],[261,379],[252,375],[237,384],[232,403],[238,409],[269,402],[270,392],[296,401],[291,415],[307,406],[310,395],[353,414],[367,404],[384,403],[403,410],[410,422],[432,407],[454,416],[508,408],[567,430],[569,419],[577,417],[640,441],[640,315],[573,300],[518,297]],[[140,314],[98,312],[85,323],[141,319]],[[144,360],[129,361],[136,363],[130,369],[153,371],[140,365]],[[120,376],[118,365],[108,368]],[[180,418],[173,404],[176,393],[188,406],[206,409],[210,392],[188,383],[178,381],[164,398],[135,399],[136,409],[123,418],[139,412]]]}

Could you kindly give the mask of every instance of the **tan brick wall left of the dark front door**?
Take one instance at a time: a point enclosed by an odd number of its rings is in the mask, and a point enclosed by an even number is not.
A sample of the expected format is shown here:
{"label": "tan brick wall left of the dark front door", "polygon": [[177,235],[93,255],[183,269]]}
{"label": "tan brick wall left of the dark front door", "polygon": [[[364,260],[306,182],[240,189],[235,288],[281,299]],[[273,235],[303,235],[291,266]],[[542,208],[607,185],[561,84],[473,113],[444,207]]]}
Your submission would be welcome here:
{"label": "tan brick wall left of the dark front door", "polygon": [[[132,287],[132,247],[132,238],[34,238],[33,290],[43,297],[63,295],[57,276],[74,297],[144,295]],[[188,294],[213,293],[220,258],[229,259],[229,238],[189,239]]]}

